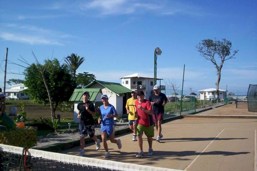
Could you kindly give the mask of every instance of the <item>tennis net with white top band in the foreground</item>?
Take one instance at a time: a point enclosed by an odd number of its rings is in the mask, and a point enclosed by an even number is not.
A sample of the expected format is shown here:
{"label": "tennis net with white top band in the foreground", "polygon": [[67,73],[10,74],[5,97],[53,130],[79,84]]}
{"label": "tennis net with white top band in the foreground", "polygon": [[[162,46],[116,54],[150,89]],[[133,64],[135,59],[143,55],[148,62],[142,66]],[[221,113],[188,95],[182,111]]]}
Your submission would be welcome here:
{"label": "tennis net with white top band in the foreground", "polygon": [[0,144],[0,170],[170,170]]}

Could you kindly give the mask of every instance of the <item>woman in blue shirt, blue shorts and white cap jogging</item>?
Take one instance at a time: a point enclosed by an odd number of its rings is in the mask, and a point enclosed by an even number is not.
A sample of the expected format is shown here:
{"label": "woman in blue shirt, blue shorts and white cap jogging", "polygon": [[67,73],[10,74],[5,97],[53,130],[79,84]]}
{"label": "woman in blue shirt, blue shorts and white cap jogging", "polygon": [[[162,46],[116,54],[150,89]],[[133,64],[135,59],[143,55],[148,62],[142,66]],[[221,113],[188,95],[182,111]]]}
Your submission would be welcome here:
{"label": "woman in blue shirt, blue shorts and white cap jogging", "polygon": [[102,121],[101,137],[104,144],[104,149],[106,151],[104,158],[107,158],[110,157],[110,152],[108,150],[108,145],[106,142],[107,135],[109,136],[109,139],[112,143],[117,144],[118,149],[121,149],[121,140],[114,139],[115,127],[113,118],[118,117],[117,111],[113,105],[109,104],[108,96],[106,94],[103,94],[101,96],[101,99],[104,104],[99,108],[99,111],[102,114],[102,119],[99,118],[98,122],[100,123]]}

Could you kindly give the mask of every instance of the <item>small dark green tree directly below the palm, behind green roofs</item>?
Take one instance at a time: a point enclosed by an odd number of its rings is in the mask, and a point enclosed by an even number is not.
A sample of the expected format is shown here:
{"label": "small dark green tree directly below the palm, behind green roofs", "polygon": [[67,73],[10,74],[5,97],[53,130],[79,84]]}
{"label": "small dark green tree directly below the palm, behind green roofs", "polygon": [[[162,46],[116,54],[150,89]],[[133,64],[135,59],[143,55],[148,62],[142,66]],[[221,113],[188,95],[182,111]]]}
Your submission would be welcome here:
{"label": "small dark green tree directly below the palm, behind green roofs", "polygon": [[95,78],[94,74],[89,74],[88,72],[79,73],[76,77],[77,88],[86,87],[86,85],[95,81]]}

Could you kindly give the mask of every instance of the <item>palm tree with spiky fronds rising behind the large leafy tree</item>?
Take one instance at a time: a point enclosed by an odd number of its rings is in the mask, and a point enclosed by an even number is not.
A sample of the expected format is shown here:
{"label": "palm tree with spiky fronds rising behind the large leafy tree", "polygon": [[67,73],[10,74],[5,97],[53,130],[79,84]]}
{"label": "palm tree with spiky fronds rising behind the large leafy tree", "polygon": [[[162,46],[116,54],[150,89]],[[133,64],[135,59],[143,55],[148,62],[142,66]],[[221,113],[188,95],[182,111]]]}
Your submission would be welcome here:
{"label": "palm tree with spiky fronds rising behind the large leafy tree", "polygon": [[67,56],[64,61],[70,67],[70,70],[73,72],[73,79],[75,80],[76,70],[79,68],[79,65],[85,60],[84,57],[80,58],[80,56],[75,55],[72,53],[70,56]]}

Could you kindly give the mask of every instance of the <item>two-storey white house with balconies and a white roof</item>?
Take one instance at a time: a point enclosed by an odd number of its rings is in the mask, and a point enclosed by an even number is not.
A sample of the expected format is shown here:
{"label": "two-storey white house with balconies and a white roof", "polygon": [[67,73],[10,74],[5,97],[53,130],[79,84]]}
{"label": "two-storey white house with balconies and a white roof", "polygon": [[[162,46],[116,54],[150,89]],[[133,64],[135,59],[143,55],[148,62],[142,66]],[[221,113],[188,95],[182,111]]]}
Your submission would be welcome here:
{"label": "two-storey white house with balconies and a white roof", "polygon": [[[146,99],[149,99],[150,94],[153,93],[153,87],[155,86],[154,78],[150,75],[135,73],[135,74],[124,76],[120,79],[121,79],[122,86],[130,90],[143,91]],[[159,84],[160,90],[165,91],[166,86],[161,86],[161,80],[163,79],[157,78],[157,80],[160,80],[160,84]]]}

